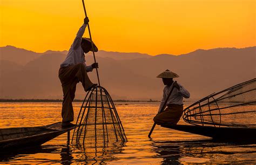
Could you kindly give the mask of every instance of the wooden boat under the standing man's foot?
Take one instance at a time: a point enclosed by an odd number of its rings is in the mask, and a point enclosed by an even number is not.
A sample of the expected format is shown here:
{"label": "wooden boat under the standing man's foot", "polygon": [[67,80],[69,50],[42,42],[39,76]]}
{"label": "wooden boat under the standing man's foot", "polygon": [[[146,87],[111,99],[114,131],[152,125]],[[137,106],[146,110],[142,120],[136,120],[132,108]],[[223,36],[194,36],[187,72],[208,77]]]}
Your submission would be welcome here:
{"label": "wooden boat under the standing man's foot", "polygon": [[43,143],[75,128],[62,128],[62,122],[41,127],[18,127],[0,129],[0,151],[40,146]]}

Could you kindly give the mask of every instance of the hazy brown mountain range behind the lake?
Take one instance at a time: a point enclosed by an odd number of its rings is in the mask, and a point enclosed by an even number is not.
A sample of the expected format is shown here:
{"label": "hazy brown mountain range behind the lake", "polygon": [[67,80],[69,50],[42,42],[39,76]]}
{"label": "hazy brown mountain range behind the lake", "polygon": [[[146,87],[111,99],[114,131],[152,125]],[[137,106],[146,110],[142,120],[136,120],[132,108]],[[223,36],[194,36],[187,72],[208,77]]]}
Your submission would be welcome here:
{"label": "hazy brown mountain range behind the lake", "polygon": [[[0,98],[62,99],[58,69],[66,53],[0,47]],[[180,56],[106,51],[96,56],[100,83],[113,99],[160,100],[164,85],[156,75],[166,69],[179,74],[176,80],[190,91],[191,100],[256,77],[256,46],[197,50]],[[87,65],[93,63],[91,53],[85,59]],[[97,83],[96,71],[89,77]],[[78,84],[76,99],[84,96]]]}

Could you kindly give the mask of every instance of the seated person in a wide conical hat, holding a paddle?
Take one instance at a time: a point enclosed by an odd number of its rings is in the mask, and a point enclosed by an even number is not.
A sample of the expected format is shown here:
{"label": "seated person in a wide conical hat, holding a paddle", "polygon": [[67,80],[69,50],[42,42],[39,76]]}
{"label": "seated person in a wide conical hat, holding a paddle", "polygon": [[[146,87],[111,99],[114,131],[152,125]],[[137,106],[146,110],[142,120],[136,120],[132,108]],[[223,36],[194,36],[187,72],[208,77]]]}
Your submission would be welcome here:
{"label": "seated person in a wide conical hat, holding a paddle", "polygon": [[[157,76],[157,78],[163,79],[163,83],[165,85],[163,99],[161,99],[158,114],[153,119],[157,125],[161,125],[163,123],[176,125],[183,113],[183,98],[190,98],[190,93],[183,86],[178,84],[177,81],[173,81],[173,78],[178,77],[178,74],[169,70],[166,70]],[[174,88],[170,98],[167,98],[172,87]],[[167,107],[163,112],[160,113],[161,109],[165,108],[163,106],[166,99],[168,99],[166,104]]]}

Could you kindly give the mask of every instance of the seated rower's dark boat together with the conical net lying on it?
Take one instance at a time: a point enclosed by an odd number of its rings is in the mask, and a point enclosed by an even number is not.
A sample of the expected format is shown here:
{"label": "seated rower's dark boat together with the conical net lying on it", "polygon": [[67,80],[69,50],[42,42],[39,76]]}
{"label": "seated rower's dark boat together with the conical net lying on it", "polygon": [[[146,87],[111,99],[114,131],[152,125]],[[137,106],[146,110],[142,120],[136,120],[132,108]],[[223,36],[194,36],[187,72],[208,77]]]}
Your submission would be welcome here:
{"label": "seated rower's dark boat together with the conical net lying on it", "polygon": [[256,78],[212,93],[186,107],[183,119],[190,125],[162,127],[226,142],[256,143]]}

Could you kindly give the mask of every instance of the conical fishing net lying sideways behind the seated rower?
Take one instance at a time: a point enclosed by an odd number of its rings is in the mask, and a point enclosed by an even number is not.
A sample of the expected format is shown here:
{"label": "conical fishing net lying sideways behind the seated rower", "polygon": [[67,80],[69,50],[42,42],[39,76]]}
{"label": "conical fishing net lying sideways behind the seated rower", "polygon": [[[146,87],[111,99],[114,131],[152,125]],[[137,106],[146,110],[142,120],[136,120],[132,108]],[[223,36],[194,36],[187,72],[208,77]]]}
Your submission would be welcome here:
{"label": "conical fishing net lying sideways behind the seated rower", "polygon": [[256,128],[256,79],[213,93],[184,109],[193,125]]}

